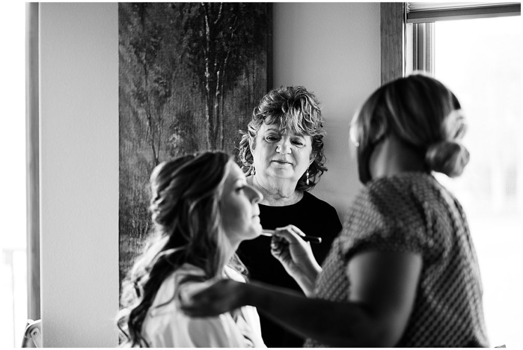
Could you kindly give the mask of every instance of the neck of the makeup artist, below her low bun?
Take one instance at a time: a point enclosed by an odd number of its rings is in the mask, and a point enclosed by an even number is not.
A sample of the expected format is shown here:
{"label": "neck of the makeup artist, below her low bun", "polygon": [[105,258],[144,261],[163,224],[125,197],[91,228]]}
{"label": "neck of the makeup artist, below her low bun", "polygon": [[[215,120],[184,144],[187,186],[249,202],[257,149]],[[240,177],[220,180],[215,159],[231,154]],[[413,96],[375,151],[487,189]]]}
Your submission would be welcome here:
{"label": "neck of the makeup artist, below her low bun", "polygon": [[407,171],[427,172],[424,157],[395,135],[385,138],[374,150],[372,158],[370,171],[373,179]]}

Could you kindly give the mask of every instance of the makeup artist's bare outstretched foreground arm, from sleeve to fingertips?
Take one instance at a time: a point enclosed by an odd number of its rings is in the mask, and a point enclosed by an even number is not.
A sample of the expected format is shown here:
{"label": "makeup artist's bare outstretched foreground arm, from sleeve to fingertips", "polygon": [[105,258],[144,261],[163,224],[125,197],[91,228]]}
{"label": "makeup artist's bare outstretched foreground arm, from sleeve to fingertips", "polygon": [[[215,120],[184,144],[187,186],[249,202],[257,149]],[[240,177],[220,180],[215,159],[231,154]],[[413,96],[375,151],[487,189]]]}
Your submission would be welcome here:
{"label": "makeup artist's bare outstretched foreground arm, from sleeve to fingertips", "polygon": [[347,266],[348,302],[309,299],[264,284],[221,281],[195,295],[193,316],[253,305],[292,332],[334,347],[391,347],[414,305],[422,259],[415,253],[362,252]]}

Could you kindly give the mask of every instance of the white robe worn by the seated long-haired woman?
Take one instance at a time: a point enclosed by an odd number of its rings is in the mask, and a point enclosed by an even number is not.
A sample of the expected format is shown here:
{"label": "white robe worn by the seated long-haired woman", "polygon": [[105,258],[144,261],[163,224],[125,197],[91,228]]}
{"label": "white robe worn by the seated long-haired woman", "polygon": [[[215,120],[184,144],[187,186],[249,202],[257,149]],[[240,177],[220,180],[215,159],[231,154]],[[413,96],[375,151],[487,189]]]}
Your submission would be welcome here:
{"label": "white robe worn by the seated long-haired woman", "polygon": [[[260,321],[255,307],[244,306],[235,310],[236,320],[230,312],[217,317],[191,318],[175,302],[180,293],[180,278],[186,275],[203,275],[196,266],[185,264],[162,283],[153,305],[147,311],[142,335],[151,347],[266,347],[261,339]],[[226,275],[235,281],[245,282],[243,276],[226,267]],[[209,285],[209,282],[184,282],[184,295]],[[162,305],[165,304],[165,305]]]}

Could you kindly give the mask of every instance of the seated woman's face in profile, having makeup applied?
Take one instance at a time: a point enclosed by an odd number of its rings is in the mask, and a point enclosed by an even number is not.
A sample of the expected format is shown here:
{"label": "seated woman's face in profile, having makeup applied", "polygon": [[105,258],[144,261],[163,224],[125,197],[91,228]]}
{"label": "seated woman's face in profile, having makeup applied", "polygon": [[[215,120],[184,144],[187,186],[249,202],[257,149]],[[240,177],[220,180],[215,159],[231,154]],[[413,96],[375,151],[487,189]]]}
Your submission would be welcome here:
{"label": "seated woman's face in profile, having makeup applied", "polygon": [[247,184],[240,167],[229,161],[229,174],[225,179],[221,198],[222,225],[233,247],[243,240],[261,234],[258,202],[263,197]]}

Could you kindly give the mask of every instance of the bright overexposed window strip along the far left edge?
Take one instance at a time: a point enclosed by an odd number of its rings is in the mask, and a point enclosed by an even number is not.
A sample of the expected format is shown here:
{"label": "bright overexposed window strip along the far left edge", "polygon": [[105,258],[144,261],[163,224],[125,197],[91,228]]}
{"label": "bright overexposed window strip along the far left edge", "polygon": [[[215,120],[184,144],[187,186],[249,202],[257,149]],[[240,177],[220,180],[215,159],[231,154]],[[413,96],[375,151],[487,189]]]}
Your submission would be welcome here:
{"label": "bright overexposed window strip along the far left edge", "polygon": [[[20,347],[27,320],[25,4],[4,4],[0,126],[0,348]],[[7,54],[8,53],[8,54]]]}

